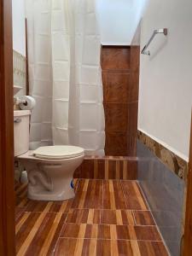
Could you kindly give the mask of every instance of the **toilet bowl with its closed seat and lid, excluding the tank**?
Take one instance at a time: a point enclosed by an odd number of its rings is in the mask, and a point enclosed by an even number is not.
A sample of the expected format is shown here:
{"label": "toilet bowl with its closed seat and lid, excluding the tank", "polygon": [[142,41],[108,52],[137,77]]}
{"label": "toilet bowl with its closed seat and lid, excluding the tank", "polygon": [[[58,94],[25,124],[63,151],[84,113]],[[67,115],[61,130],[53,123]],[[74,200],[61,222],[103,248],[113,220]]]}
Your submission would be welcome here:
{"label": "toilet bowl with its closed seat and lid, excluding the tank", "polygon": [[73,173],[84,160],[84,148],[41,147],[18,157],[28,177],[28,198],[63,201],[74,197]]}

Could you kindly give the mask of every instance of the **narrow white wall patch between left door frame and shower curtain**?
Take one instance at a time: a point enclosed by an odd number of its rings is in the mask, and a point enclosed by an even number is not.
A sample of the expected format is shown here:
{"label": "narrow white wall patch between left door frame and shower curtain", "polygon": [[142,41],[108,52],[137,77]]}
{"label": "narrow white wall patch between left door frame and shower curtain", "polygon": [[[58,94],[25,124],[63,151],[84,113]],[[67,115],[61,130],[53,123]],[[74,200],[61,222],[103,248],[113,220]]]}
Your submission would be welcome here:
{"label": "narrow white wall patch between left door frame and shower curtain", "polygon": [[25,0],[12,0],[13,47],[21,55],[26,55]]}

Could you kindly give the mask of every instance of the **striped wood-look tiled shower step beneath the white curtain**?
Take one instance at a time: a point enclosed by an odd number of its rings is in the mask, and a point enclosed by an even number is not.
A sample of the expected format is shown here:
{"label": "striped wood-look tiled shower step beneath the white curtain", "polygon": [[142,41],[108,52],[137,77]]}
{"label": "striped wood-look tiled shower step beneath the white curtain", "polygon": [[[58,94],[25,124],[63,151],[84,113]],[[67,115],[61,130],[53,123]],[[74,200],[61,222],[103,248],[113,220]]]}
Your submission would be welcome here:
{"label": "striped wood-look tiled shower step beneath the white curtain", "polygon": [[137,158],[131,157],[86,157],[74,173],[75,178],[90,179],[137,179]]}

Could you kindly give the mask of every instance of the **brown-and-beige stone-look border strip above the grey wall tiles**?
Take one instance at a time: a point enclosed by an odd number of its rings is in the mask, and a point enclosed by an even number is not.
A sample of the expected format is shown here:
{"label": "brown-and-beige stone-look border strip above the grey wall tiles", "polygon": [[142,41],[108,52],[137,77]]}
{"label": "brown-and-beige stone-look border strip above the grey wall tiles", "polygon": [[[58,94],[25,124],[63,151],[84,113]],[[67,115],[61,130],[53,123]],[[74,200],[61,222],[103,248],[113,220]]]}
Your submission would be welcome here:
{"label": "brown-and-beige stone-look border strip above the grey wall tiles", "polygon": [[154,141],[153,138],[148,137],[142,131],[137,132],[137,137],[139,141],[147,146],[172,172],[186,181],[188,163],[185,160],[181,159],[177,154],[174,154],[160,143]]}

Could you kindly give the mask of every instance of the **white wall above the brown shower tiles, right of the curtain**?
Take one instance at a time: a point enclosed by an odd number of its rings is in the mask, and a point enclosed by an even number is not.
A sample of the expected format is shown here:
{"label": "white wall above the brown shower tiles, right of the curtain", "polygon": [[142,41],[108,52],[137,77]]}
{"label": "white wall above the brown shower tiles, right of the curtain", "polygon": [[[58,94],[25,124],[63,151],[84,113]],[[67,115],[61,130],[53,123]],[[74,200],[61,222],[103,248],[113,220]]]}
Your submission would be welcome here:
{"label": "white wall above the brown shower tiles, right of the curtain", "polygon": [[148,0],[96,0],[103,45],[130,45]]}

